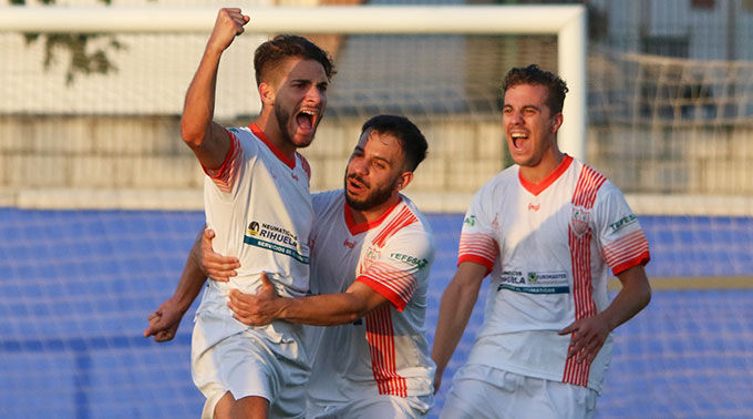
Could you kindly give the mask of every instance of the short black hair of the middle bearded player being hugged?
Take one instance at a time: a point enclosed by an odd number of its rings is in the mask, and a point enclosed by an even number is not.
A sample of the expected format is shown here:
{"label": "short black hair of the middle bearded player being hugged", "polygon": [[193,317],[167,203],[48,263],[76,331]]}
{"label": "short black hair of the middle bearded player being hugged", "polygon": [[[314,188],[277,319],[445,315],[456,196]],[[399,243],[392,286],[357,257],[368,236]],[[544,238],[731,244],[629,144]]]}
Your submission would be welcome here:
{"label": "short black hair of the middle bearded player being hugged", "polygon": [[390,134],[400,141],[405,155],[405,168],[415,171],[426,159],[429,144],[417,126],[405,116],[376,115],[363,123],[361,133],[373,130],[380,134]]}

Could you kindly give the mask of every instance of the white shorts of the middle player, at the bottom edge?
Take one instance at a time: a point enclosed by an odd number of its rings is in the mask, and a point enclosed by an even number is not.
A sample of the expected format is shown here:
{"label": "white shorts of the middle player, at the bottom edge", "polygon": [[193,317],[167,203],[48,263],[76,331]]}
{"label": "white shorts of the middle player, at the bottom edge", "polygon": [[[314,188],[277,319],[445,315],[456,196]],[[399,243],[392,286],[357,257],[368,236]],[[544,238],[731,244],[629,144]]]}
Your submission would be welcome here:
{"label": "white shorts of the middle player, at the bottom edge", "polygon": [[309,403],[307,419],[421,419],[432,406],[433,396],[398,397],[390,395],[368,396],[329,406]]}

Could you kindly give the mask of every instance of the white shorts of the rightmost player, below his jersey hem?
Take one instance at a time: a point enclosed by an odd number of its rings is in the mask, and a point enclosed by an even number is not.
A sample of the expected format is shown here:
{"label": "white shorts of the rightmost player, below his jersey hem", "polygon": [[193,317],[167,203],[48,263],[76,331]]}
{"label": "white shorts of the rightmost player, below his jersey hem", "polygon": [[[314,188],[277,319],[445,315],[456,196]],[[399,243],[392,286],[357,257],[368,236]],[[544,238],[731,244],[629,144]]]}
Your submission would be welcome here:
{"label": "white shorts of the rightmost player, below his jersey hem", "polygon": [[581,386],[465,365],[453,378],[441,418],[591,418],[597,397]]}

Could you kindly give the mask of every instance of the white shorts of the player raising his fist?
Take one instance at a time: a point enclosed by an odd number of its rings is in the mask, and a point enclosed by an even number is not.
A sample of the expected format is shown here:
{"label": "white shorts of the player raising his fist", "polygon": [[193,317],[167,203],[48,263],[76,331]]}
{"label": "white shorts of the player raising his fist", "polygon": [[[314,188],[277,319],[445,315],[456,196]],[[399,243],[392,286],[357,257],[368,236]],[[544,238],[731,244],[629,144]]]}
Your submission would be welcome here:
{"label": "white shorts of the player raising his fist", "polygon": [[192,343],[192,376],[207,398],[202,418],[212,419],[228,391],[236,400],[249,396],[269,400],[270,418],[305,417],[310,368],[297,339],[274,338],[248,328],[204,348],[204,329],[216,326],[216,319],[202,321],[202,317],[197,316]]}

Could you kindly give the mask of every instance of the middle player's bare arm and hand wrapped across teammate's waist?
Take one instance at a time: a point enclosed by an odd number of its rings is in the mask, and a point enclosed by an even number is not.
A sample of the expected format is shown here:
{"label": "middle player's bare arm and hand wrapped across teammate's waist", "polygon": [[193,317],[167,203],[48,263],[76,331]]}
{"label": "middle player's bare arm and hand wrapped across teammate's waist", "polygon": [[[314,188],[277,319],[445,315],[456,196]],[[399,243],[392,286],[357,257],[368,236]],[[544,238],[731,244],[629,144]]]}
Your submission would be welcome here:
{"label": "middle player's bare arm and hand wrapped across teammate's waist", "polygon": [[303,298],[278,296],[266,273],[261,274],[261,282],[255,295],[237,289],[230,292],[228,306],[235,317],[246,325],[261,326],[276,319],[314,326],[344,325],[388,304],[384,296],[358,280],[344,293]]}

